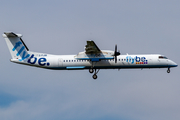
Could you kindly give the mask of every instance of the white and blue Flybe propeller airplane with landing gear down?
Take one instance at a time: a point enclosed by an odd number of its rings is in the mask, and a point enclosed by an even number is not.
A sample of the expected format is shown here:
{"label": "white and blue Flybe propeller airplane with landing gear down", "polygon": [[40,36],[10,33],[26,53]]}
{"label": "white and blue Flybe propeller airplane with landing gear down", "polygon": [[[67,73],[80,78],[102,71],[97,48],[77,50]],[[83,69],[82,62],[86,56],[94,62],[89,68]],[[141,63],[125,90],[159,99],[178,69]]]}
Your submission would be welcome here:
{"label": "white and blue Flybe propeller airplane with landing gear down", "polygon": [[88,69],[97,79],[100,69],[134,69],[134,68],[167,68],[178,65],[161,54],[121,55],[117,51],[100,50],[93,40],[88,40],[85,51],[77,55],[52,55],[29,51],[22,40],[21,34],[4,32],[12,59],[11,62],[53,70],[84,70]]}

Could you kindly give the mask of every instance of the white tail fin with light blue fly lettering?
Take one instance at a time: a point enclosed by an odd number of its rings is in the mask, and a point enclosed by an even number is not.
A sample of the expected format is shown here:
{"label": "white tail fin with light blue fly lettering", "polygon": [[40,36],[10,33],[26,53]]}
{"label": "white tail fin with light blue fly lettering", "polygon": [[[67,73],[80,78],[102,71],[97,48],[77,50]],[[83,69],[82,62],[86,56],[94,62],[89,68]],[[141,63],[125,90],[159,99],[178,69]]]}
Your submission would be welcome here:
{"label": "white tail fin with light blue fly lettering", "polygon": [[19,61],[23,61],[30,56],[27,52],[29,51],[29,49],[21,39],[21,34],[15,34],[13,32],[10,32],[4,33],[3,37],[5,38],[12,59],[18,59]]}

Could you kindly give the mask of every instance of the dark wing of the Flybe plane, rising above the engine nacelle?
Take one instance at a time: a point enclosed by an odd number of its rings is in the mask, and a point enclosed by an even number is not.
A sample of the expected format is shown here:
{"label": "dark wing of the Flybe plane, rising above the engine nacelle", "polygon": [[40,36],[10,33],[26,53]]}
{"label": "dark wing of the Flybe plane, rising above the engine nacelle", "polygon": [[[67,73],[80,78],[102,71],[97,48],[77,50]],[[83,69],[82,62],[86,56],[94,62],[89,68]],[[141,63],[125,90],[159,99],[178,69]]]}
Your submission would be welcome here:
{"label": "dark wing of the Flybe plane, rising above the engine nacelle", "polygon": [[92,40],[87,41],[85,51],[86,51],[86,54],[99,54],[99,53],[101,53],[101,50],[98,48],[98,46]]}

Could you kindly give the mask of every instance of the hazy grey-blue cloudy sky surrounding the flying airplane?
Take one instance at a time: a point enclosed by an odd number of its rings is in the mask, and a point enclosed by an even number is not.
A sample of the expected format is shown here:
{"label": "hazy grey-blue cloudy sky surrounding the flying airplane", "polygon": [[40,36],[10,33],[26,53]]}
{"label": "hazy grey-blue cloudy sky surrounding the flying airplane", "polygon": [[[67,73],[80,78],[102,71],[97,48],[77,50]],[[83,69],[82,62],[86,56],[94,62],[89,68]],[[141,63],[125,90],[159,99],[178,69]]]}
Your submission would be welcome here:
{"label": "hazy grey-blue cloudy sky surrounding the flying airplane", "polygon": [[[0,33],[30,51],[65,55],[87,40],[121,54],[163,54],[180,64],[178,0],[1,0]],[[53,71],[11,63],[0,38],[1,120],[179,120],[180,68]]]}

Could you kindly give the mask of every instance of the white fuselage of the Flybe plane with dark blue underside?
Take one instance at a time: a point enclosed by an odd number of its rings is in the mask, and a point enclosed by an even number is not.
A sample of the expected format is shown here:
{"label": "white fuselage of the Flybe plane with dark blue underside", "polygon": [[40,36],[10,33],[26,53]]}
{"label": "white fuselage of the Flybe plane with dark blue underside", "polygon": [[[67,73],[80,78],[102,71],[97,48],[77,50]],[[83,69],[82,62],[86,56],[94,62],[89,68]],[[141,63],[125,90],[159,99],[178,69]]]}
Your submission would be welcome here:
{"label": "white fuselage of the Flybe plane with dark blue underside", "polygon": [[[79,60],[76,55],[50,55],[29,53],[30,58],[25,61],[11,59],[12,62],[55,70],[77,69],[129,69],[129,68],[170,68],[177,64],[170,59],[161,58],[160,54],[147,55],[120,55],[117,63],[114,59],[104,59],[98,62]],[[93,64],[93,66],[92,66]]]}

